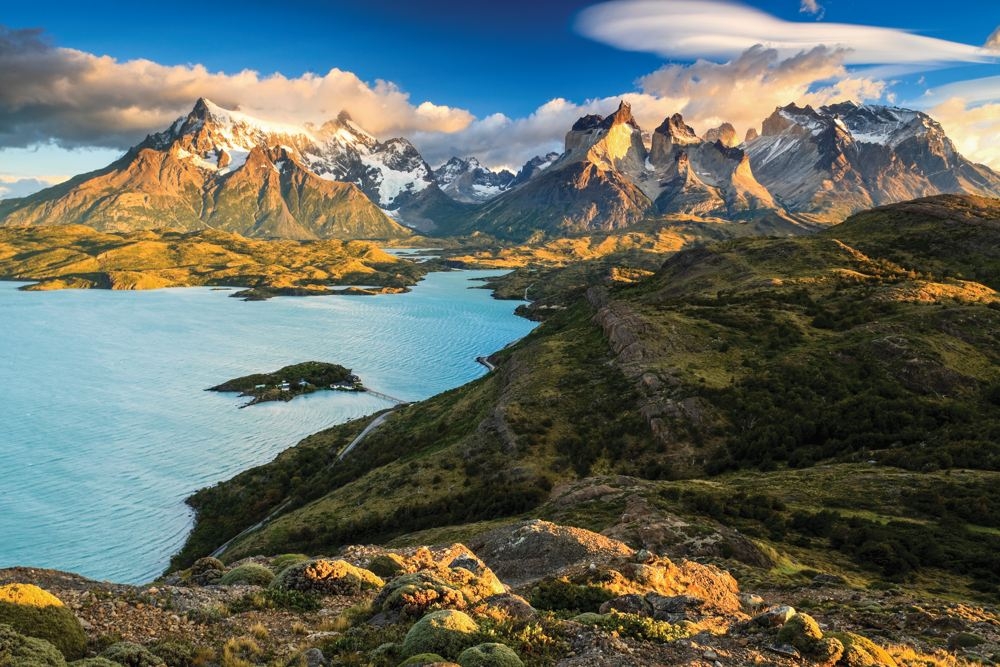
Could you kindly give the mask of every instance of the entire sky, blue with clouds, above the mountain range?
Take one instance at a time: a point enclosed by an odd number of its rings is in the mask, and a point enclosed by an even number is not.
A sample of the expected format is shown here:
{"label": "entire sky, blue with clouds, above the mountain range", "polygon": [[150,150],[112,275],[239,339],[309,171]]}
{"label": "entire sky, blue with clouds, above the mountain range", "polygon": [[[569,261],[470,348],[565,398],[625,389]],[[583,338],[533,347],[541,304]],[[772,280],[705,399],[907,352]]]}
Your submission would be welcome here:
{"label": "entire sky, blue with clouds, above the mountain range", "polygon": [[5,3],[0,197],[96,169],[198,97],[284,122],[347,109],[516,169],[632,103],[741,133],[776,106],[918,108],[1000,168],[1000,1],[225,0]]}

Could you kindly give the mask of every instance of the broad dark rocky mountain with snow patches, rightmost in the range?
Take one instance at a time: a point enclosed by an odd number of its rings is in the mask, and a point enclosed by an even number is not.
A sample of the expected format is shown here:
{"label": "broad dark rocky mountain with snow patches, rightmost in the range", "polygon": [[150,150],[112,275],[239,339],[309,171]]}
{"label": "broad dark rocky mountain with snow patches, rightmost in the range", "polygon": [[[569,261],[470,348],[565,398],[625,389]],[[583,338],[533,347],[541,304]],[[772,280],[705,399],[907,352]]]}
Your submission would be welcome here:
{"label": "broad dark rocky mountain with snow patches, rightmost in the range", "polygon": [[749,139],[744,148],[760,182],[789,212],[817,222],[942,193],[1000,196],[1000,175],[962,157],[919,111],[790,104]]}

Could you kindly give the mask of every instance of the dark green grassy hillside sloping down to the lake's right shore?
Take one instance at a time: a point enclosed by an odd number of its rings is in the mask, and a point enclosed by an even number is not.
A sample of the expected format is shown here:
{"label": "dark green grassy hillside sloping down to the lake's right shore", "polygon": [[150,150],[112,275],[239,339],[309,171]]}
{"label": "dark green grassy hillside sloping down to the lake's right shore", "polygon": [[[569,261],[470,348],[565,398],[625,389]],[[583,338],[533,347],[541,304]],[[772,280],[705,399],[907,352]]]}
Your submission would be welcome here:
{"label": "dark green grassy hillside sloping down to the lake's right shore", "polygon": [[[1000,297],[903,261],[912,236],[846,243],[855,224],[704,245],[587,289],[496,372],[399,410],[344,462],[361,422],[198,493],[175,565],[286,502],[227,557],[455,539],[522,515],[624,530],[644,498],[643,525],[740,528],[766,557],[715,555],[769,581],[832,571],[1000,595]],[[921,218],[927,243],[946,224]]]}

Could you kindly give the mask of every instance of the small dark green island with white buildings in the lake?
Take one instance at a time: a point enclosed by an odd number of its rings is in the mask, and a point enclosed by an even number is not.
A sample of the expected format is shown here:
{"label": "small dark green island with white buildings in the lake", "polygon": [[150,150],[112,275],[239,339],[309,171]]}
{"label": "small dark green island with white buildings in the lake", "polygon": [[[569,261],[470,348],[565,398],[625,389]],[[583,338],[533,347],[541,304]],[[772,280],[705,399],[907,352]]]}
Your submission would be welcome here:
{"label": "small dark green island with white buildings in the lake", "polygon": [[367,391],[361,378],[339,364],[306,361],[273,373],[255,373],[209,387],[206,391],[238,391],[251,398],[248,405],[265,401],[290,401],[314,391]]}

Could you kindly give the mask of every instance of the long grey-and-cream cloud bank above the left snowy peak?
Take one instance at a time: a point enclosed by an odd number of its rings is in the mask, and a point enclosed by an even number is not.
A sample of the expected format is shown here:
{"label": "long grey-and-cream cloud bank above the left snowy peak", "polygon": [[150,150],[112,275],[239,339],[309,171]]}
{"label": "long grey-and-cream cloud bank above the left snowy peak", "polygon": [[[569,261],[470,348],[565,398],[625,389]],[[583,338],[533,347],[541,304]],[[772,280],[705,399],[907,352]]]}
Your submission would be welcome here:
{"label": "long grey-and-cream cloud bank above the left snowy peak", "polygon": [[377,134],[453,132],[473,120],[463,109],[414,104],[393,83],[369,84],[339,69],[290,78],[118,61],[53,47],[38,31],[0,26],[0,146],[55,141],[123,148],[168,126],[199,97],[298,122],[347,109]]}

